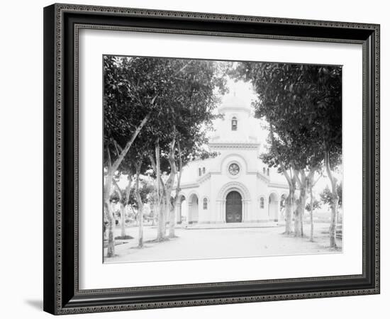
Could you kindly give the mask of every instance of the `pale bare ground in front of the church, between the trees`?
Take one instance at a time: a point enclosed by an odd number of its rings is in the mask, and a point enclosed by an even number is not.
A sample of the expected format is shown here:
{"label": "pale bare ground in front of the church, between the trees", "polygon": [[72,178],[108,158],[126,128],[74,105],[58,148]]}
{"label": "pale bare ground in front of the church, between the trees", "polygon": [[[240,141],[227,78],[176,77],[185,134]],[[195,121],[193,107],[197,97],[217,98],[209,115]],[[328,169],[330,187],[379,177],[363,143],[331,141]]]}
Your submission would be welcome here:
{"label": "pale bare ground in front of the church, between the trees", "polygon": [[[151,262],[183,259],[214,259],[230,257],[260,257],[290,254],[321,254],[342,252],[342,242],[338,239],[338,249],[330,249],[328,224],[316,224],[314,242],[308,240],[309,225],[304,225],[306,237],[283,235],[284,227],[268,228],[224,228],[186,229],[177,228],[176,238],[164,242],[148,242],[157,234],[155,227],[144,229],[145,246],[138,249],[138,228],[127,228],[131,240],[116,245],[116,256],[105,258],[104,262]],[[120,229],[116,229],[120,235]],[[106,255],[106,249],[104,250]]]}

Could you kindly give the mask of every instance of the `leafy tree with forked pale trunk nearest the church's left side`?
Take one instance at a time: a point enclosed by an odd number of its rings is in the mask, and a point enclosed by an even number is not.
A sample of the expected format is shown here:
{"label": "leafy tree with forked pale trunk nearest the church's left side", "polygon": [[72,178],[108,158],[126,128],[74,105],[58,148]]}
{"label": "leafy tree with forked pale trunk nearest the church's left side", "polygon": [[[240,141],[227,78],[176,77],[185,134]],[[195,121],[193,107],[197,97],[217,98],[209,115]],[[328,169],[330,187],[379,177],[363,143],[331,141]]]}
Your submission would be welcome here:
{"label": "leafy tree with forked pale trunk nearest the church's left side", "polygon": [[171,65],[165,72],[165,81],[169,82],[169,94],[165,96],[167,107],[159,113],[158,123],[150,125],[155,147],[149,158],[156,175],[157,203],[160,206],[159,241],[165,239],[168,219],[170,237],[174,236],[175,200],[171,196],[175,179],[180,177],[183,162],[186,162],[183,155],[190,149],[187,144],[191,143],[196,150],[195,146],[205,141],[205,131],[216,118],[213,114],[218,101],[215,90],[225,89],[225,80],[216,62],[180,59],[169,62]]}

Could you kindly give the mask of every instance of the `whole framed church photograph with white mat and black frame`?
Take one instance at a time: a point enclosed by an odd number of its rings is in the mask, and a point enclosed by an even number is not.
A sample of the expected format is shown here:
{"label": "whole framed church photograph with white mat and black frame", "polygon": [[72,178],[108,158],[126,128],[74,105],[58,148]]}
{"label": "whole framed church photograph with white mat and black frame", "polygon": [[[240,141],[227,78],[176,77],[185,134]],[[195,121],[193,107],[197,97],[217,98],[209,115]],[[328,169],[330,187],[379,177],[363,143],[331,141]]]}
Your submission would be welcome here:
{"label": "whole framed church photograph with white mat and black frame", "polygon": [[44,310],[379,293],[379,25],[44,9]]}

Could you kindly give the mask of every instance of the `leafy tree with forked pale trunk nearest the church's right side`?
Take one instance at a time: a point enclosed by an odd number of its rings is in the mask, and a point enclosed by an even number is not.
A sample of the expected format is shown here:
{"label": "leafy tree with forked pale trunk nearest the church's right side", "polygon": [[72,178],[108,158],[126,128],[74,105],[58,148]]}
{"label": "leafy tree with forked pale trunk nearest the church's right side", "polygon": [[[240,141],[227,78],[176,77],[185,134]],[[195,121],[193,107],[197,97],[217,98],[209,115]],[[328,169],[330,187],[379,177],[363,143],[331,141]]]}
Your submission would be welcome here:
{"label": "leafy tree with forked pale trunk nearest the church's right side", "polygon": [[[289,65],[281,63],[244,62],[236,73],[252,82],[257,92],[255,116],[269,123],[272,147],[263,158],[279,167],[289,183],[290,194],[299,188],[294,207],[294,233],[303,236],[303,212],[306,203],[308,181],[318,171],[323,161],[322,141],[311,130],[316,118],[316,106],[311,87],[312,74],[318,66]],[[292,174],[287,174],[287,170]],[[295,183],[292,181],[295,178]],[[292,195],[292,194],[291,194]],[[294,196],[289,196],[294,198]],[[289,203],[290,209],[292,203]],[[289,220],[286,222],[286,232]]]}

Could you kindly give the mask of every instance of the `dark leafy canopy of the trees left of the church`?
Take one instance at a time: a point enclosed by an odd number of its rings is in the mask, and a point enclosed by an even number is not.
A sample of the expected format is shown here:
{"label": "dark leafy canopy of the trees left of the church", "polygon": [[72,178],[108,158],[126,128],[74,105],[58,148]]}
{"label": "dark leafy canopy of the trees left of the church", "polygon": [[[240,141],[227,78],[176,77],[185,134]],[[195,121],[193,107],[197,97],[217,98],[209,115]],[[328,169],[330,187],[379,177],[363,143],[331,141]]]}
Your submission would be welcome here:
{"label": "dark leafy canopy of the trees left of the church", "polygon": [[213,61],[105,56],[104,67],[106,145],[116,140],[123,147],[148,112],[152,116],[141,133],[146,140],[159,138],[164,148],[172,134],[194,137],[201,125],[211,124],[214,89],[225,90],[217,74],[221,67]]}

